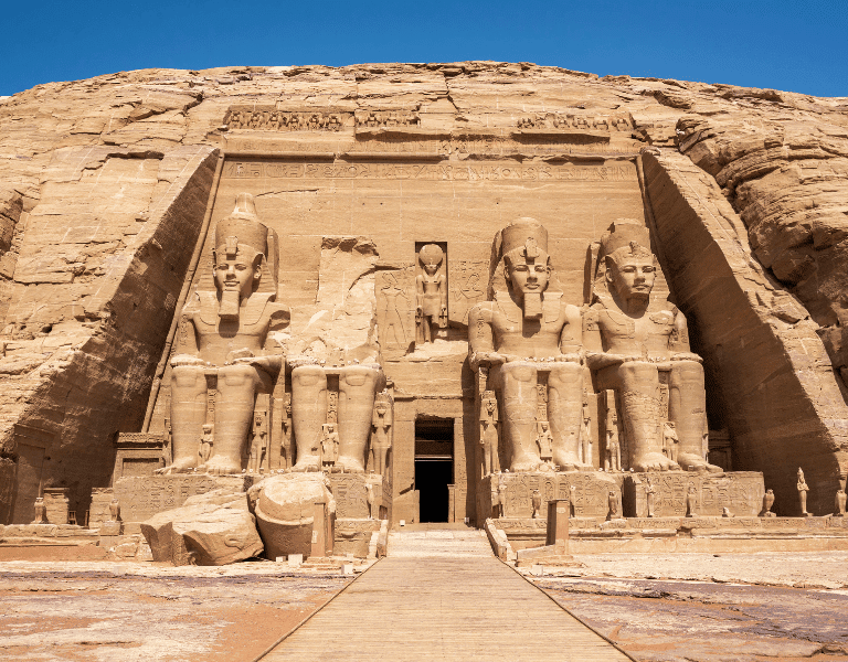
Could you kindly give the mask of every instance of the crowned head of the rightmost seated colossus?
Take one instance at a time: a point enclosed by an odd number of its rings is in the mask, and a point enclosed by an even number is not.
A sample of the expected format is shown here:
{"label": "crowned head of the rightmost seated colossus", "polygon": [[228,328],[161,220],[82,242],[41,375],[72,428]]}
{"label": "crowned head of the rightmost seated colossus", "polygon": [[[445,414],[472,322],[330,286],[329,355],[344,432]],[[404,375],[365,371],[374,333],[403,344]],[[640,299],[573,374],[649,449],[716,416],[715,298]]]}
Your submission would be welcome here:
{"label": "crowned head of the rightmost seated colossus", "polygon": [[601,249],[610,292],[628,306],[647,306],[657,276],[648,228],[638,223],[616,222],[601,237]]}

